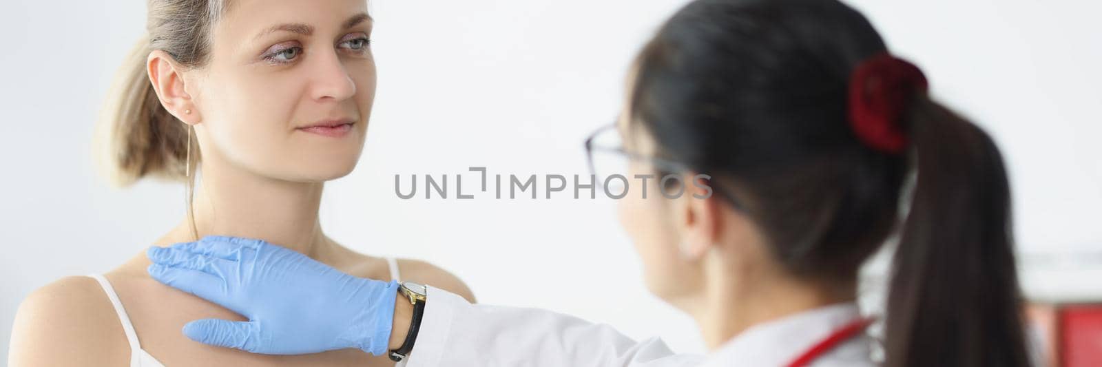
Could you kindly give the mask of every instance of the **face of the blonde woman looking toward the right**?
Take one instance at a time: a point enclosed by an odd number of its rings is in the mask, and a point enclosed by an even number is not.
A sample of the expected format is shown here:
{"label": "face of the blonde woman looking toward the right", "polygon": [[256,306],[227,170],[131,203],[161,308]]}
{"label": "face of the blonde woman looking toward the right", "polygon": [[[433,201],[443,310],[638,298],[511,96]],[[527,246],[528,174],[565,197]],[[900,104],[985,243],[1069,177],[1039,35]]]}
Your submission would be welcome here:
{"label": "face of the blonde woman looking toward the right", "polygon": [[230,3],[214,30],[209,63],[190,76],[198,84],[204,165],[225,162],[295,182],[352,172],[375,99],[367,2]]}

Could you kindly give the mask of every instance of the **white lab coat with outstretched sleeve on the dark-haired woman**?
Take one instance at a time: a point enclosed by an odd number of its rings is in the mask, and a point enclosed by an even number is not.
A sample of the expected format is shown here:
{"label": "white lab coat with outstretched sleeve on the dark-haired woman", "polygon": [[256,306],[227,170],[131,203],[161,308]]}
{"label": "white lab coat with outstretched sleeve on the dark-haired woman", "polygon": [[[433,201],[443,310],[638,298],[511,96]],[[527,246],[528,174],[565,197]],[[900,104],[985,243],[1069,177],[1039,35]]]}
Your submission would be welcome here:
{"label": "white lab coat with outstretched sleeve on the dark-haired woman", "polygon": [[[429,302],[407,367],[731,367],[785,366],[858,317],[854,303],[753,326],[713,353],[674,354],[655,337],[636,342],[608,325],[545,310],[471,304],[429,287]],[[866,334],[839,344],[812,366],[875,366]]]}

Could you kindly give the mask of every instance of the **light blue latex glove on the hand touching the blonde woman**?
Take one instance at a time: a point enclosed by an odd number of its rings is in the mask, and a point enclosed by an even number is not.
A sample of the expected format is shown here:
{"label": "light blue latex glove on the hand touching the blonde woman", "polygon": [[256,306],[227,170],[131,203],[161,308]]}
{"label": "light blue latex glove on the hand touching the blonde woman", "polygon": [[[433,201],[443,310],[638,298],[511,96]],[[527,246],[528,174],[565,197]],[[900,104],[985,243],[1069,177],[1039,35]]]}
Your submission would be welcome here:
{"label": "light blue latex glove on the hand touching the blonde woman", "polygon": [[193,341],[260,354],[387,352],[397,282],[356,278],[258,239],[208,236],[151,247],[149,274],[248,322],[196,320]]}

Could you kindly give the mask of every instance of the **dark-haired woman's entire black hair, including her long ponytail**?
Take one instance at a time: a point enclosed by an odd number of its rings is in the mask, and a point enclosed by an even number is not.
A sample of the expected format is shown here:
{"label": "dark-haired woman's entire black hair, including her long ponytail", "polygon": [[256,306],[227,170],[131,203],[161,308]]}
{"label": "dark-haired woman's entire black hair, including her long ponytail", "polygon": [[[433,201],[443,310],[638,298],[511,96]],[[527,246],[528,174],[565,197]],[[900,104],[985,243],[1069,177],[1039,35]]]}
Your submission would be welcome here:
{"label": "dark-haired woman's entire black hair, including her long ponytail", "polygon": [[776,260],[809,280],[855,281],[899,227],[914,172],[886,366],[1027,366],[998,149],[925,93],[896,121],[904,153],[862,143],[850,78],[885,52],[868,21],[835,0],[693,1],[641,51],[629,121],[658,155],[736,193]]}

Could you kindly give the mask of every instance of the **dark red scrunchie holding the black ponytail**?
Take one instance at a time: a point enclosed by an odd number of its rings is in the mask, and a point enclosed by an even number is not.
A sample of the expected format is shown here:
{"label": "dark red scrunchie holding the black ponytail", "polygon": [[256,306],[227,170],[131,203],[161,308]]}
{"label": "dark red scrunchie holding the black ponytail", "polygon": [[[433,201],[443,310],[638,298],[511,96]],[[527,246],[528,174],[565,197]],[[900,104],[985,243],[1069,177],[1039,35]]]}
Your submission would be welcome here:
{"label": "dark red scrunchie holding the black ponytail", "polygon": [[850,125],[866,145],[898,154],[907,147],[900,115],[914,93],[926,93],[926,76],[886,52],[861,62],[850,77]]}

